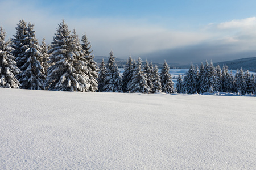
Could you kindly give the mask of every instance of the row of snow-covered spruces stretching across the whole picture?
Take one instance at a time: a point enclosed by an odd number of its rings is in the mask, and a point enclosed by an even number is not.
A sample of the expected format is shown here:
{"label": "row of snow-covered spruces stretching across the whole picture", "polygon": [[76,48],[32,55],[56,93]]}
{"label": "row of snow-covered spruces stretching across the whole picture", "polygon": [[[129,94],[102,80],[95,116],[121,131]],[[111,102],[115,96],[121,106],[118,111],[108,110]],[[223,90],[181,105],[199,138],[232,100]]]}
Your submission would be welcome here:
{"label": "row of snow-covered spruces stretching across the whole picture", "polygon": [[[0,87],[31,90],[77,92],[138,92],[187,93],[230,92],[240,95],[256,94],[255,75],[248,70],[201,63],[191,66],[184,76],[177,78],[176,88],[167,62],[158,69],[152,62],[142,65],[140,57],[127,59],[121,76],[113,51],[108,61],[102,59],[100,67],[93,60],[86,34],[79,40],[76,31],[59,24],[51,45],[45,39],[39,44],[34,24],[20,20],[16,35],[5,41],[6,32],[0,27]],[[160,70],[160,71],[159,71]]]}

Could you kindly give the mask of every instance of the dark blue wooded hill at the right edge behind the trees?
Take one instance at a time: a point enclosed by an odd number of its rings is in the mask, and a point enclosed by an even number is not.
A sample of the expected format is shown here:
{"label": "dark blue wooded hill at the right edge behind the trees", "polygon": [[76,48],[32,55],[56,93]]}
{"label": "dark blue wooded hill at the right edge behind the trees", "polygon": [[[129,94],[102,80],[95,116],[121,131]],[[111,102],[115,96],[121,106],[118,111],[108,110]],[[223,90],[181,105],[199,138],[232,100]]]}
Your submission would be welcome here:
{"label": "dark blue wooded hill at the right edge behind the trees", "polygon": [[243,70],[249,70],[256,72],[256,57],[241,58],[232,61],[217,62],[214,65],[219,64],[222,68],[223,65],[227,65],[229,69],[237,70],[242,67]]}

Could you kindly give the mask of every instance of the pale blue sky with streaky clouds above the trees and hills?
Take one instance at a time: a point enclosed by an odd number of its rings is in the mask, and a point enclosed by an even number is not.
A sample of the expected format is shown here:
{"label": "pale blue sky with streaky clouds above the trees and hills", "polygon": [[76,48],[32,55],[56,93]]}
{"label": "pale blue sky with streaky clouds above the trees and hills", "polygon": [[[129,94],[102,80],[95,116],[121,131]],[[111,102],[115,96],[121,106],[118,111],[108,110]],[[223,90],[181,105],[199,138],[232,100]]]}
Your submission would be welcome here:
{"label": "pale blue sky with streaky clouds above the trees and hills", "polygon": [[0,0],[0,25],[15,35],[24,19],[39,42],[53,40],[65,20],[94,56],[163,63],[213,62],[256,57],[256,1],[31,1]]}

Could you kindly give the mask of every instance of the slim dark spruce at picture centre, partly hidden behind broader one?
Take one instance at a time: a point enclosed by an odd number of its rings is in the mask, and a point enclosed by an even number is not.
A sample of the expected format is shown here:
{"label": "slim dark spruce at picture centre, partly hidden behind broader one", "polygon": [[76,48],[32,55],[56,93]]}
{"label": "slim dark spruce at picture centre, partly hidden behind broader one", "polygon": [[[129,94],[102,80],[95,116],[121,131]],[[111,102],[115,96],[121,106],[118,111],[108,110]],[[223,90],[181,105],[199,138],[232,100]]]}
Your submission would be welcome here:
{"label": "slim dark spruce at picture centre, partly hidden behind broader one", "polygon": [[132,70],[134,69],[133,59],[129,56],[129,59],[125,65],[125,71],[123,71],[123,92],[127,92],[129,87],[129,82],[131,82],[131,77],[133,76]]}

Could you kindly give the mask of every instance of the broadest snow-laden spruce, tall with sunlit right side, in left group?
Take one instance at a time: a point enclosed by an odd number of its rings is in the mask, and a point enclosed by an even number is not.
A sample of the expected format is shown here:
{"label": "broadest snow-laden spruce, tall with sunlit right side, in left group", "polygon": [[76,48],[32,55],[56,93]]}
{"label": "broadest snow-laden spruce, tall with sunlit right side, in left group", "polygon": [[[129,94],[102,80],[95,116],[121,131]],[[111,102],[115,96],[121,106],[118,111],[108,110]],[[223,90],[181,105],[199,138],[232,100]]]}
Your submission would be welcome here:
{"label": "broadest snow-laden spruce, tall with sunlit right side, in left group", "polygon": [[88,69],[77,39],[74,33],[71,35],[63,20],[53,37],[52,49],[49,50],[49,64],[54,65],[48,69],[44,88],[57,91],[89,91],[89,78],[85,74]]}

